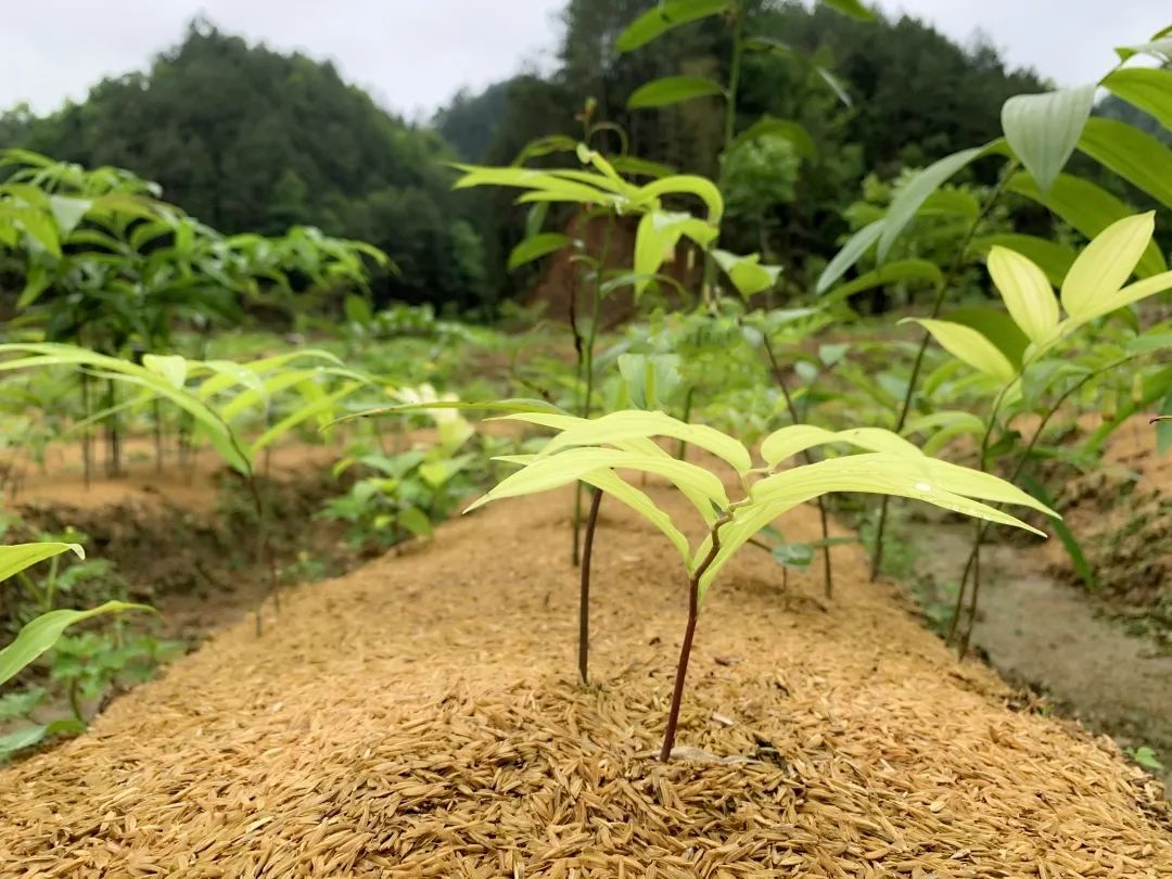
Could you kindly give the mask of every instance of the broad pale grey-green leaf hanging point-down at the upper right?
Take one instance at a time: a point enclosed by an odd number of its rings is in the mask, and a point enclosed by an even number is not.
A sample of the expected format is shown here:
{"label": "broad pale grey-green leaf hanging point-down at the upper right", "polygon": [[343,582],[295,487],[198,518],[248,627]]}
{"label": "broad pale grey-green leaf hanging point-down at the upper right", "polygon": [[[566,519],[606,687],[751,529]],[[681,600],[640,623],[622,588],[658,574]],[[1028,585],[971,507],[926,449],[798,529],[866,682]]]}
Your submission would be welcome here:
{"label": "broad pale grey-green leaf hanging point-down at the upper right", "polygon": [[1070,161],[1093,105],[1095,86],[1083,86],[1015,95],[1001,108],[1006,139],[1042,192],[1049,192]]}

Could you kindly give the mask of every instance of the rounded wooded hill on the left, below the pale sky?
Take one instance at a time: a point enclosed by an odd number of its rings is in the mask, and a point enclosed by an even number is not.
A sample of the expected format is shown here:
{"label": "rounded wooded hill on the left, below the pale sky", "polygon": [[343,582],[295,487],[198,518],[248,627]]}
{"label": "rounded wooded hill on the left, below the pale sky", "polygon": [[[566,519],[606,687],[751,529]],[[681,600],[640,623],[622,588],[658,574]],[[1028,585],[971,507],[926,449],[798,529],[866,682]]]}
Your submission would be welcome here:
{"label": "rounded wooded hill on the left, below the pale sky", "polygon": [[449,191],[442,159],[455,155],[440,135],[390,116],[333,64],[204,21],[148,73],[105,80],[83,103],[0,117],[0,138],[132,169],[225,232],[311,224],[368,240],[403,270],[380,280],[384,298],[466,308],[483,295],[479,239]]}

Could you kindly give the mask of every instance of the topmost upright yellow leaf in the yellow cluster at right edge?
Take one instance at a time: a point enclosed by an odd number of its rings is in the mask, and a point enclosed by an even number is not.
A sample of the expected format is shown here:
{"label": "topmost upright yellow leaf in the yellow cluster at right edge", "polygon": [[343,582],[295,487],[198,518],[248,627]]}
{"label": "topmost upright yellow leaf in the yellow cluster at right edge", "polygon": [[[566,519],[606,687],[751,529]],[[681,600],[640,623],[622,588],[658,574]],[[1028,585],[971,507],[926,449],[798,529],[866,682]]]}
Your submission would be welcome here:
{"label": "topmost upright yellow leaf in the yellow cluster at right edge", "polygon": [[1062,285],[1062,306],[1076,321],[1089,319],[1115,298],[1152,240],[1156,214],[1125,217],[1095,237],[1071,266]]}

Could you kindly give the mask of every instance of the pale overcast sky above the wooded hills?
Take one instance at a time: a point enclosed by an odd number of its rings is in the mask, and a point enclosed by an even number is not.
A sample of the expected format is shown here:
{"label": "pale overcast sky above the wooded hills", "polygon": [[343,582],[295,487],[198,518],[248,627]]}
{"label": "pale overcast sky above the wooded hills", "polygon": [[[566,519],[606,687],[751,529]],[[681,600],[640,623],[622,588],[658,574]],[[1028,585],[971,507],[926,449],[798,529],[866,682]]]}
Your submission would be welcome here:
{"label": "pale overcast sky above the wooded hills", "polygon": [[[222,29],[332,59],[379,102],[429,117],[458,88],[547,62],[565,0],[36,0],[0,13],[0,109],[81,100],[103,76],[144,68],[204,14]],[[1011,66],[1059,84],[1102,76],[1112,48],[1172,19],[1167,0],[879,0],[968,42],[980,29]],[[1108,13],[1108,14],[1104,14]]]}

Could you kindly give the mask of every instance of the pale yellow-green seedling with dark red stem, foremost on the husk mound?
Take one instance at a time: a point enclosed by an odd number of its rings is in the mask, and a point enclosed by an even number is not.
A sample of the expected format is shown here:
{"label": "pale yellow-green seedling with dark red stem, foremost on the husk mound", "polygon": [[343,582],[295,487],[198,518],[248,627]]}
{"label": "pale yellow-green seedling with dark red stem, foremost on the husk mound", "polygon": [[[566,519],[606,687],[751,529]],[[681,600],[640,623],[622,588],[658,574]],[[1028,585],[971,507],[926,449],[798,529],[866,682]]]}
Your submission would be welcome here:
{"label": "pale yellow-green seedling with dark red stem, foremost on the husk mound", "polygon": [[[675,745],[680,704],[700,607],[716,578],[737,551],[782,513],[832,491],[860,491],[925,500],[943,509],[1014,525],[1042,534],[984,500],[1020,504],[1057,518],[1057,513],[1020,489],[983,473],[924,455],[912,443],[878,428],[832,432],[796,424],[769,435],[761,445],[762,464],[727,434],[701,424],[688,424],[663,413],[625,410],[599,418],[578,418],[546,413],[517,413],[505,418],[557,430],[536,455],[506,456],[502,461],[522,469],[472,504],[475,510],[492,500],[550,491],[577,481],[626,504],[672,543],[683,560],[688,579],[688,624],[672,693],[672,707],[660,759],[668,761]],[[731,469],[736,491],[708,468],[679,461],[657,438],[683,441],[710,452]],[[778,468],[808,449],[849,445],[861,454],[827,458],[816,464]],[[695,507],[707,534],[690,546],[672,516],[620,471],[633,470],[666,478]],[[465,512],[468,512],[465,511]],[[1043,534],[1044,537],[1044,534]]]}

